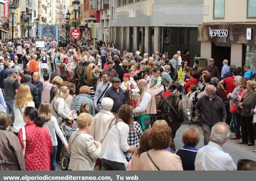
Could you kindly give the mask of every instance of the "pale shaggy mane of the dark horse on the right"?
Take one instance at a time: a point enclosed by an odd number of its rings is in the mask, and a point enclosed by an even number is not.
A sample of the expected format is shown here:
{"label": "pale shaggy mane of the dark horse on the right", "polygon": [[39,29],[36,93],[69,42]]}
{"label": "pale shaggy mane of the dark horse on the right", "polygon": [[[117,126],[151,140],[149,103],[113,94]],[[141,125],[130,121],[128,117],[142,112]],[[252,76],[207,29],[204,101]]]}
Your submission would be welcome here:
{"label": "pale shaggy mane of the dark horse on the right", "polygon": [[178,112],[180,113],[180,115],[186,113],[187,107],[189,107],[189,111],[192,112],[192,102],[189,97],[182,93],[176,94],[176,96],[176,104],[178,105]]}

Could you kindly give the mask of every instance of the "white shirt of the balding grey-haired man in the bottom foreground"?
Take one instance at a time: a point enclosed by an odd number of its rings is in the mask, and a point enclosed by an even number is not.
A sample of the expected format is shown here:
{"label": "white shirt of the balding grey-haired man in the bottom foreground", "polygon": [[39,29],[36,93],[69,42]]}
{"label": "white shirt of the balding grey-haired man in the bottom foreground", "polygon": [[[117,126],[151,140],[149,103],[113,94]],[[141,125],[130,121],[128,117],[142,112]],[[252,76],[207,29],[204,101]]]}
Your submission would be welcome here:
{"label": "white shirt of the balding grey-haired man in the bottom foreground", "polygon": [[195,170],[236,170],[236,165],[228,153],[210,141],[197,152]]}

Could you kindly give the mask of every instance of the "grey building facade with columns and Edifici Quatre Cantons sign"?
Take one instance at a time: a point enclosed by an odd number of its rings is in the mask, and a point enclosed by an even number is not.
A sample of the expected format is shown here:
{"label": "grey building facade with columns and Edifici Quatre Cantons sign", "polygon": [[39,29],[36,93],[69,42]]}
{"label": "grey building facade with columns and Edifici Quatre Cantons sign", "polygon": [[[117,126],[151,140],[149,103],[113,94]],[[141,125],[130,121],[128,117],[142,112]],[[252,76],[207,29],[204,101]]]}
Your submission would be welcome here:
{"label": "grey building facade with columns and Edifici Quatre Cantons sign", "polygon": [[[198,24],[203,22],[203,0],[110,1],[110,40],[118,49],[140,54],[154,51],[172,58],[177,50],[200,54]],[[193,62],[193,61],[190,61]]]}

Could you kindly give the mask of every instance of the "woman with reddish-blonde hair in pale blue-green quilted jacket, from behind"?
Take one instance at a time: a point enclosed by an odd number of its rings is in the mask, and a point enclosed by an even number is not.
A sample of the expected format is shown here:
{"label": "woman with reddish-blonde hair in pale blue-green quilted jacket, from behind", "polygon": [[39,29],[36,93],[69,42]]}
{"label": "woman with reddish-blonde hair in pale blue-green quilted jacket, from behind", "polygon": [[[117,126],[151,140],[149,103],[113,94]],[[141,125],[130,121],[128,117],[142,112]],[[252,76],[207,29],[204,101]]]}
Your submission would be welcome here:
{"label": "woman with reddish-blonde hair in pale blue-green quilted jacket, from behind", "polygon": [[93,101],[92,101],[92,97],[90,96],[90,87],[88,86],[82,86],[79,89],[80,94],[78,94],[74,101],[71,104],[70,109],[74,109],[75,111],[79,110],[80,111],[80,107],[81,104],[83,103],[87,103],[89,104],[89,108],[90,108],[90,114],[92,116],[95,116],[95,111],[94,111],[94,107],[93,107]]}

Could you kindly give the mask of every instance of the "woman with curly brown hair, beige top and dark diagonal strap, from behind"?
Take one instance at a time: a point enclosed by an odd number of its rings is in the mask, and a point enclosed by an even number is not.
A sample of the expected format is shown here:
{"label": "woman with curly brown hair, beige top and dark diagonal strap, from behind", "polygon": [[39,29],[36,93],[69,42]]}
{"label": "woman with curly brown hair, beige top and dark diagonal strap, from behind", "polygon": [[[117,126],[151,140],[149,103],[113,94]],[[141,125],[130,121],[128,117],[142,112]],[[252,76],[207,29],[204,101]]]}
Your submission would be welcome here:
{"label": "woman with curly brown hair, beige top and dark diagonal strap, from behind", "polygon": [[151,128],[149,144],[153,148],[140,155],[138,170],[183,170],[180,156],[166,150],[171,143],[171,128]]}

